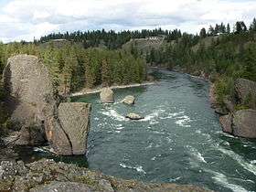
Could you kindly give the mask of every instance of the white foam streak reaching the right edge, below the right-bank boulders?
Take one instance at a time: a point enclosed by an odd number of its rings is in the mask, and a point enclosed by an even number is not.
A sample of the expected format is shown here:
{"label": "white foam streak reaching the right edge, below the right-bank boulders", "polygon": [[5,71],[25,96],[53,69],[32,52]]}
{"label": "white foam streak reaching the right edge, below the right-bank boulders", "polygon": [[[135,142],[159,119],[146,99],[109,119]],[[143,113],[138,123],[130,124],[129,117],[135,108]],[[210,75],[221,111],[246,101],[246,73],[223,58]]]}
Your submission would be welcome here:
{"label": "white foam streak reaching the right edge, below the right-bank boulders", "polygon": [[233,151],[224,149],[221,146],[217,146],[216,147],[220,152],[222,152],[225,155],[229,155],[229,157],[231,157],[232,159],[234,159],[235,161],[237,161],[244,169],[250,171],[252,174],[254,174],[256,176],[256,165],[248,163],[242,156],[234,153]]}

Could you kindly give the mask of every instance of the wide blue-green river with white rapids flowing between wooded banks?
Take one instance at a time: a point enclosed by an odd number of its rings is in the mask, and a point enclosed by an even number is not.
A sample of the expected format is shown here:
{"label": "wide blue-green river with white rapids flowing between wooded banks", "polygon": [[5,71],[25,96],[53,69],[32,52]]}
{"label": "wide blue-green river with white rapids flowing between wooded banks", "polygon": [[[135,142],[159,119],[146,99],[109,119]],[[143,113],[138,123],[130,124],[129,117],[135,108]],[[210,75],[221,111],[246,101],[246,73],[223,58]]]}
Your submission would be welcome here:
{"label": "wide blue-green river with white rapids flowing between wooded banks", "polygon": [[[208,82],[155,69],[155,85],[99,94],[92,103],[88,165],[103,174],[146,182],[192,184],[217,191],[256,190],[256,142],[222,133],[208,102]],[[121,101],[132,94],[136,101]],[[144,115],[135,122],[128,112]]]}

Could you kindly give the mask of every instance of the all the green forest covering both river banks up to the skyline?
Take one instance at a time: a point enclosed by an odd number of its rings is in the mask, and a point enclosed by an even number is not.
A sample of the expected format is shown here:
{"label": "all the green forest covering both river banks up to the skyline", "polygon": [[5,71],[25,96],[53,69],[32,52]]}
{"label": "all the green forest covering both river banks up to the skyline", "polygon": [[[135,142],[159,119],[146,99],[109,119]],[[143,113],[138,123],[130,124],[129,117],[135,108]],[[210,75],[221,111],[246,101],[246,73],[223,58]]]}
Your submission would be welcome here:
{"label": "all the green forest covering both river banks up to the skyline", "polygon": [[202,28],[199,35],[161,28],[53,33],[33,43],[0,44],[0,72],[12,55],[36,55],[47,65],[59,91],[66,93],[84,87],[142,82],[146,80],[146,60],[154,66],[206,74],[216,81],[222,104],[232,98],[234,80],[256,80],[255,41],[256,19],[250,27],[242,21],[234,27],[221,23],[208,30]]}

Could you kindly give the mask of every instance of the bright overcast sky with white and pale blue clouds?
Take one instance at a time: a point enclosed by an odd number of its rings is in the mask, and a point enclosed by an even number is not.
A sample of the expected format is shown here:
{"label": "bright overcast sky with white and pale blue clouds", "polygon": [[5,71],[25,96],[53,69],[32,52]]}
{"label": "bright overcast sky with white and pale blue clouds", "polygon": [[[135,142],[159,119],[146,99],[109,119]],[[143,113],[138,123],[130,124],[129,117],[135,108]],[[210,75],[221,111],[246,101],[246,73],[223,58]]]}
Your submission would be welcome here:
{"label": "bright overcast sky with white and pale blue clouds", "polygon": [[200,28],[251,23],[256,0],[0,0],[0,40],[33,40],[51,32],[105,28]]}

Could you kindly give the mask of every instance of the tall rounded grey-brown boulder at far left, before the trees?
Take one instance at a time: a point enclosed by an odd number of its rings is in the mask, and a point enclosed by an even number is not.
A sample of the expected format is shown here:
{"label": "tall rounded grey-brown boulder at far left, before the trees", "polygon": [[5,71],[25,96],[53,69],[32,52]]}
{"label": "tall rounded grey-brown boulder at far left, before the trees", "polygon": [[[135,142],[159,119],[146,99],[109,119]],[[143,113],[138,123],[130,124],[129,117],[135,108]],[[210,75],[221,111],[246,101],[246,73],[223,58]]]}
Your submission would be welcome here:
{"label": "tall rounded grey-brown boulder at far left, before the trees", "polygon": [[35,56],[17,55],[8,59],[3,80],[7,93],[5,109],[11,122],[17,129],[22,128],[21,135],[28,139],[29,127],[44,127],[58,105],[48,69]]}

